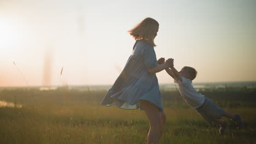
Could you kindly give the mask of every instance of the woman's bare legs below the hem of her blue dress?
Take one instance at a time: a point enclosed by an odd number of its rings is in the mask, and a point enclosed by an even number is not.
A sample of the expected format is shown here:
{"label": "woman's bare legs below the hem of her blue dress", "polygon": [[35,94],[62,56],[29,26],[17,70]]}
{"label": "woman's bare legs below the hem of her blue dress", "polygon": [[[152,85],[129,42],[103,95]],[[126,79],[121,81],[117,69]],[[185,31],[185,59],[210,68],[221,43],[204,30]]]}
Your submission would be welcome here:
{"label": "woman's bare legs below the hem of her blue dress", "polygon": [[148,144],[157,144],[161,137],[163,128],[162,111],[148,100],[140,100],[139,103],[148,117],[150,129],[148,131]]}

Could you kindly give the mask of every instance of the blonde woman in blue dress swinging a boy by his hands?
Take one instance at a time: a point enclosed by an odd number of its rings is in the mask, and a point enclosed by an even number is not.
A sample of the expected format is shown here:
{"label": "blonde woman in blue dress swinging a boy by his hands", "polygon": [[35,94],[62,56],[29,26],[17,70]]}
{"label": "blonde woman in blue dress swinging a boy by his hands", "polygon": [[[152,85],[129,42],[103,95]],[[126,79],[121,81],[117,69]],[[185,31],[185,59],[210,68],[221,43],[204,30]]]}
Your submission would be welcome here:
{"label": "blonde woman in blue dress swinging a boy by his hands", "polygon": [[136,40],[124,70],[103,98],[102,105],[117,105],[121,109],[144,110],[150,123],[148,143],[158,143],[166,115],[161,104],[158,79],[155,73],[173,65],[173,59],[156,60],[154,39],[159,23],[148,17],[130,31]]}

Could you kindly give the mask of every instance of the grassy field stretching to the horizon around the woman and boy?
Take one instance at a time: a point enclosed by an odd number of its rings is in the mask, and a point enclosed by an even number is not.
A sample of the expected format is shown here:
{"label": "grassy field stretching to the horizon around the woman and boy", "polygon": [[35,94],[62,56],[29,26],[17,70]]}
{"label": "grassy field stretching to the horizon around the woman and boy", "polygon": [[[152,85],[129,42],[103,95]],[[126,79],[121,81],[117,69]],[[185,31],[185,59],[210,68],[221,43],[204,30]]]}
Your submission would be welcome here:
{"label": "grassy field stretching to the horizon around the woman and boy", "polygon": [[[99,105],[104,93],[3,90],[1,100],[22,107],[0,107],[0,143],[146,143],[144,112]],[[225,110],[241,113],[245,128],[225,119],[229,127],[219,136],[219,125],[203,121],[177,92],[162,92],[167,122],[160,143],[256,143],[255,92],[205,94]]]}

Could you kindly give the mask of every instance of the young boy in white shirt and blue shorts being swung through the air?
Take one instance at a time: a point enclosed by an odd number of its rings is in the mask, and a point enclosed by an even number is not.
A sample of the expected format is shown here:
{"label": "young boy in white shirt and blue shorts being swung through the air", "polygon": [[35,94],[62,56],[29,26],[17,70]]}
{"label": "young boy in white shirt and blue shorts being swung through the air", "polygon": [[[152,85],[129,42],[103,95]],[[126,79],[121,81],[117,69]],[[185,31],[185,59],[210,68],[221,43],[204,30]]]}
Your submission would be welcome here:
{"label": "young boy in white shirt and blue shorts being swung through the air", "polygon": [[[164,61],[164,60],[163,60]],[[187,104],[196,109],[196,111],[207,122],[216,122],[220,124],[219,134],[223,135],[227,122],[223,121],[222,116],[231,118],[238,128],[242,127],[242,121],[239,114],[233,115],[226,112],[218,105],[214,104],[210,99],[204,97],[201,93],[196,92],[195,88],[191,85],[192,80],[195,79],[197,71],[191,67],[183,67],[181,71],[177,71],[174,67],[165,69],[166,72],[173,77],[174,82],[179,84],[179,93]]]}

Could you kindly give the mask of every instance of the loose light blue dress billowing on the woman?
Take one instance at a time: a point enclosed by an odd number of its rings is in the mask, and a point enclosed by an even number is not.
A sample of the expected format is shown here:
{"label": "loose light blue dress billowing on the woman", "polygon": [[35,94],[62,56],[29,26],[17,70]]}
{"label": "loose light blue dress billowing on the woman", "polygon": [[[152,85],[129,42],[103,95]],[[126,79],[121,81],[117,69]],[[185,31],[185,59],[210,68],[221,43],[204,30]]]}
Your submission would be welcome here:
{"label": "loose light blue dress billowing on the woman", "polygon": [[158,65],[153,45],[137,40],[125,67],[109,89],[102,105],[117,105],[121,109],[141,109],[139,100],[148,100],[162,110],[158,78],[148,70]]}

